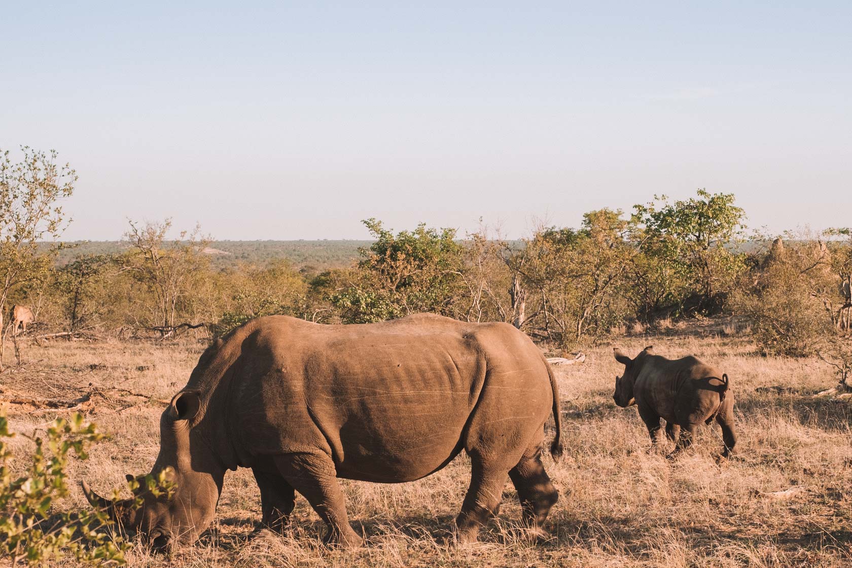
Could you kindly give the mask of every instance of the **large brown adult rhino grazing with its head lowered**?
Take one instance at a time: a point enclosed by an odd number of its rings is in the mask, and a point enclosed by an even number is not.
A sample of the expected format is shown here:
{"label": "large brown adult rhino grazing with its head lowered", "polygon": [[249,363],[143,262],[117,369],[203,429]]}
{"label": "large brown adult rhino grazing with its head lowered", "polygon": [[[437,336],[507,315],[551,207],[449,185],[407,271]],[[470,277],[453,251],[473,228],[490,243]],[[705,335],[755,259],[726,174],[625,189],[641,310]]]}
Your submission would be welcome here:
{"label": "large brown adult rhino grazing with its head lowered", "polygon": [[[456,519],[476,540],[506,474],[533,531],[556,502],[540,459],[544,422],[561,454],[559,392],[533,341],[509,324],[419,314],[380,324],[258,318],[215,341],[160,418],[160,452],[176,486],[141,508],[112,509],[154,548],[194,542],[216,512],[228,469],[251,468],[262,522],[281,530],[298,491],[328,525],[326,542],[357,546],[337,478],[400,483],[461,450],[472,476]],[[96,507],[109,503],[83,491]]]}

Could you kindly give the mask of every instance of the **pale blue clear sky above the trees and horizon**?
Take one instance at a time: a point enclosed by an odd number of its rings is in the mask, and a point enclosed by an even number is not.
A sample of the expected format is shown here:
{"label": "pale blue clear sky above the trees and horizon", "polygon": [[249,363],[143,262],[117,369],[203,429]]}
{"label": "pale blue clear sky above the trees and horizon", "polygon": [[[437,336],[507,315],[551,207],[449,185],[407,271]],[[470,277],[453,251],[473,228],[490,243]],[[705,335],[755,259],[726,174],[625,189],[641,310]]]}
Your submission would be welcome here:
{"label": "pale blue clear sky above the trees and horizon", "polygon": [[0,146],[78,169],[66,238],[366,238],[734,192],[848,226],[852,3],[3,3]]}

